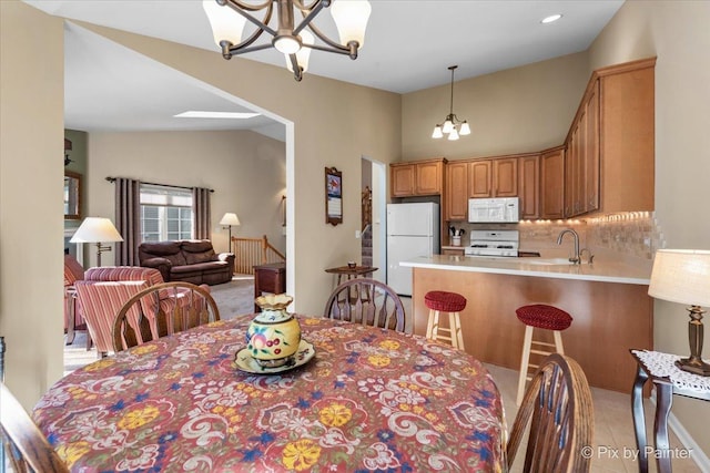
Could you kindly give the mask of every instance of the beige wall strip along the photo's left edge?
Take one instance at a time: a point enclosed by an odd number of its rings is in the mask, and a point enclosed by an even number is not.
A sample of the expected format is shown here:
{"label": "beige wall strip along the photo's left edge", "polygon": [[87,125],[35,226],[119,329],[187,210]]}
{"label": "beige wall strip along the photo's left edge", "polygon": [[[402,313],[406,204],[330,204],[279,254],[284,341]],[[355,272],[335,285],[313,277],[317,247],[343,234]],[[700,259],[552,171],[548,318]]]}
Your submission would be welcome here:
{"label": "beige wall strip along the photo's left edge", "polygon": [[0,1],[0,336],[27,409],[63,364],[62,35],[61,20]]}

